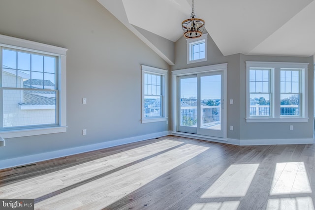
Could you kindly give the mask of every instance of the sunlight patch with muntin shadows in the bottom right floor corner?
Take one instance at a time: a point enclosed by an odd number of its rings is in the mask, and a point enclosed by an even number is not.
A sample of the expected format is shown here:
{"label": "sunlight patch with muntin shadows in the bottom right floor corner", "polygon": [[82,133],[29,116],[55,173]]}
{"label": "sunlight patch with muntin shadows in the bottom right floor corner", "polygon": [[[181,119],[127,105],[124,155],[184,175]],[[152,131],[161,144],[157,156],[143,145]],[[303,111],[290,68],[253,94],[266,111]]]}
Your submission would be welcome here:
{"label": "sunlight patch with muntin shadows in the bottom right floor corner", "polygon": [[311,197],[269,199],[266,210],[314,210]]}

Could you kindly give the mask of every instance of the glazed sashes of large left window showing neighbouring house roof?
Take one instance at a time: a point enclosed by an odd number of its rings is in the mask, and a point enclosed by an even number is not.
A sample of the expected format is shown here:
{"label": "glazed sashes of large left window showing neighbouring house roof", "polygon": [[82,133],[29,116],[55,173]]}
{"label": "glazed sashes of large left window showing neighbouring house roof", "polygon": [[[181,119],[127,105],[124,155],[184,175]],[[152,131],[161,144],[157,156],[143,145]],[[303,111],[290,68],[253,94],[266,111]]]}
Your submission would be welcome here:
{"label": "glazed sashes of large left window showing neighbouring house roof", "polygon": [[58,123],[57,60],[56,56],[1,48],[0,129]]}

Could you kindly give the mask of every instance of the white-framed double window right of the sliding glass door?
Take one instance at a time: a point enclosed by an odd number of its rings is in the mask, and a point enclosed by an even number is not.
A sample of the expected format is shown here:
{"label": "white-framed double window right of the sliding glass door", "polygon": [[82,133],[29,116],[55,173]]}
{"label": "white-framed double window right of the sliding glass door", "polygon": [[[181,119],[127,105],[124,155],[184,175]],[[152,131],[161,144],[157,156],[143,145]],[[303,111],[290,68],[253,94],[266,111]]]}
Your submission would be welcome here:
{"label": "white-framed double window right of the sliding glass door", "polygon": [[307,121],[308,63],[247,61],[247,122]]}

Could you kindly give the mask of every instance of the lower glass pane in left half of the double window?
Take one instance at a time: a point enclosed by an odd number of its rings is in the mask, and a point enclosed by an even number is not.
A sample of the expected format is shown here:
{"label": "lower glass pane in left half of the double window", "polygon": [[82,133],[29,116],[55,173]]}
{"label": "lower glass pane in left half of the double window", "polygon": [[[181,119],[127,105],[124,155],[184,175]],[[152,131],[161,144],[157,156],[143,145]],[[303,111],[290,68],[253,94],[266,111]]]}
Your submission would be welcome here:
{"label": "lower glass pane in left half of the double window", "polygon": [[250,115],[270,116],[269,94],[250,94]]}

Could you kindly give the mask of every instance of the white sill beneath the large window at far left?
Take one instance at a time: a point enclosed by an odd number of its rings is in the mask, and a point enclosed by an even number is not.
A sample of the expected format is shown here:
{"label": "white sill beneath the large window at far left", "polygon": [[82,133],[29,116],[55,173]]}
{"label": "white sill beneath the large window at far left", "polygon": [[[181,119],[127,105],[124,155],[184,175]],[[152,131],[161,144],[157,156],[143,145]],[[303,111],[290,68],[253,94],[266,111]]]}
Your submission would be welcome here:
{"label": "white sill beneath the large window at far left", "polygon": [[66,129],[67,129],[67,126],[60,126],[60,127],[48,127],[48,128],[33,128],[33,129],[0,131],[0,136],[4,139],[24,137],[24,136],[35,136],[35,135],[43,135],[43,134],[51,134],[51,133],[62,133],[62,132],[66,132]]}

